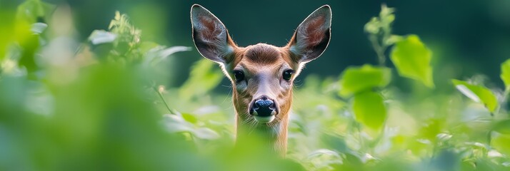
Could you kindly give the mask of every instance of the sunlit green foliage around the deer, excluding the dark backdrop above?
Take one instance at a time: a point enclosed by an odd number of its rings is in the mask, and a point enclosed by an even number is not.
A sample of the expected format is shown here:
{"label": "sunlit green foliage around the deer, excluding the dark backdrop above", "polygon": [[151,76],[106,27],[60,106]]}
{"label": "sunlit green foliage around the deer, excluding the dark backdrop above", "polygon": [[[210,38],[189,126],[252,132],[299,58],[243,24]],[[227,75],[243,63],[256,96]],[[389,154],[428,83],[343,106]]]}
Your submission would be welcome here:
{"label": "sunlit green foliage around the deer, excluding the dark backdrop above", "polygon": [[[146,40],[119,12],[107,30],[77,43],[55,32],[61,25],[48,6],[26,1],[0,24],[0,170],[510,168],[509,61],[501,65],[505,93],[452,81],[464,100],[442,90],[452,86],[435,88],[431,50],[417,36],[391,34],[394,9],[386,6],[365,26],[379,66],[346,68],[340,81],[296,81],[286,159],[262,152],[259,138],[232,152],[234,109],[230,94],[214,91],[225,79],[216,63],[197,61],[182,86],[166,88],[165,62],[189,47]],[[391,46],[399,75],[428,88],[391,76]]]}

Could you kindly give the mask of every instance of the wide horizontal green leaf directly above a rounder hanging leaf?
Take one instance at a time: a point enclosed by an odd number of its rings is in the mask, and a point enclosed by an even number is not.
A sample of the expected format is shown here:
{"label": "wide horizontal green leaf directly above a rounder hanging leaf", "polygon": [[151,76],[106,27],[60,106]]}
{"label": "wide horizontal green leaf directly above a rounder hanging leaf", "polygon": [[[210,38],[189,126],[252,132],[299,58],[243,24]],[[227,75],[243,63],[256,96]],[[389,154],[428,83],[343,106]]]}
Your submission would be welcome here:
{"label": "wide horizontal green leaf directly above a rounder hanging leaf", "polygon": [[384,87],[389,81],[391,81],[389,68],[370,65],[349,67],[342,74],[339,95],[348,97],[371,88]]}

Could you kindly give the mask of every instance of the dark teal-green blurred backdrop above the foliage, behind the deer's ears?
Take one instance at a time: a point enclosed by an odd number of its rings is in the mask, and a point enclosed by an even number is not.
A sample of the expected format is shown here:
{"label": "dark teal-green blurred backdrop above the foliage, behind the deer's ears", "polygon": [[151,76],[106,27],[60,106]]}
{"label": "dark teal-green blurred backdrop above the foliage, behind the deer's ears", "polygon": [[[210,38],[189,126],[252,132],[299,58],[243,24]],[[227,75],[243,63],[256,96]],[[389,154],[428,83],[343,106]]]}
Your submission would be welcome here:
{"label": "dark teal-green blurred backdrop above the foliage, behind the deer's ears", "polygon": [[[383,3],[397,9],[394,33],[420,35],[434,51],[434,68],[448,68],[434,73],[438,76],[466,78],[482,73],[495,80],[499,73],[495,66],[510,56],[510,2],[507,0],[48,2],[71,6],[81,38],[107,26],[108,16],[121,11],[144,31],[144,38],[179,46],[194,46],[189,22],[192,4],[201,4],[213,12],[239,46],[260,42],[284,46],[311,11],[329,4],[334,15],[329,49],[320,60],[306,66],[303,76],[309,73],[338,76],[346,66],[376,63],[374,51],[361,28],[379,12]],[[201,56],[195,49],[175,56],[175,61],[169,64],[175,77],[171,85],[179,86],[187,78],[191,63]],[[222,84],[229,85],[226,79]]]}

